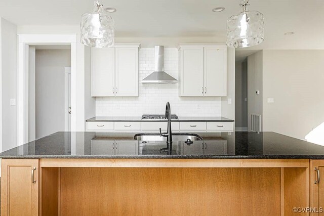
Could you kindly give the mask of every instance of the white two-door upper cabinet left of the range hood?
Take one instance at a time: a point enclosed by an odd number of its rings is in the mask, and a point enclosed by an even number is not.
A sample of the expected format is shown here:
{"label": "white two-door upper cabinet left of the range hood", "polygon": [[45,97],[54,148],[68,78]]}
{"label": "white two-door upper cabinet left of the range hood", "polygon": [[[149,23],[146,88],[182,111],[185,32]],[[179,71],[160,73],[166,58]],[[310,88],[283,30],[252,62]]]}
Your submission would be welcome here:
{"label": "white two-door upper cabinet left of the range hood", "polygon": [[92,48],[92,97],[139,96],[139,48],[139,44]]}

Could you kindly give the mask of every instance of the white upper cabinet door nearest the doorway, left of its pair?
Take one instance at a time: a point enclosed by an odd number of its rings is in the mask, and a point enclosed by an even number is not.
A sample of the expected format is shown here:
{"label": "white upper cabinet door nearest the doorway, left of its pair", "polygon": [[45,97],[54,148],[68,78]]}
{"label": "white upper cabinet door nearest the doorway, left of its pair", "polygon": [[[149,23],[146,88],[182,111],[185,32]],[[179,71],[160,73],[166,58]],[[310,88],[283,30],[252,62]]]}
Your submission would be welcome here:
{"label": "white upper cabinet door nearest the doorway, left of its pair", "polygon": [[92,48],[91,96],[115,96],[115,48]]}

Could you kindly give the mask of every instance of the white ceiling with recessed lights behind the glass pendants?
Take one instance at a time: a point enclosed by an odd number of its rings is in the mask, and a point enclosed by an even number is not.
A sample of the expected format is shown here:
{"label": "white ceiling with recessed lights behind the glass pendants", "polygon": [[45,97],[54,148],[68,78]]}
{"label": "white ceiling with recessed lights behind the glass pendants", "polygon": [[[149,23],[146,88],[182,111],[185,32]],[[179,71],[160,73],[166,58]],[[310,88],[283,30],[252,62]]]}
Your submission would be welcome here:
{"label": "white ceiling with recessed lights behind the glass pendants", "polygon": [[[226,21],[240,0],[102,0],[114,7],[116,37],[217,37],[226,41]],[[91,0],[0,0],[0,16],[17,25],[79,25]],[[225,7],[220,13],[211,10]],[[324,49],[324,0],[250,0],[264,14],[265,41],[240,49]],[[295,31],[294,35],[284,35]]]}

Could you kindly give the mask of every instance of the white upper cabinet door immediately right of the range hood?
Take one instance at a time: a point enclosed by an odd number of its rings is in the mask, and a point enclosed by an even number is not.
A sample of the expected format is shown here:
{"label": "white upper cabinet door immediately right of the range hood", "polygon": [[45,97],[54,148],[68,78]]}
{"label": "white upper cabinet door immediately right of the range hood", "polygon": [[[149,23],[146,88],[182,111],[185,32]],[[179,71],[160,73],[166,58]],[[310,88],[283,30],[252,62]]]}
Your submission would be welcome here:
{"label": "white upper cabinet door immediately right of the range hood", "polygon": [[204,48],[181,48],[179,67],[179,96],[204,96]]}

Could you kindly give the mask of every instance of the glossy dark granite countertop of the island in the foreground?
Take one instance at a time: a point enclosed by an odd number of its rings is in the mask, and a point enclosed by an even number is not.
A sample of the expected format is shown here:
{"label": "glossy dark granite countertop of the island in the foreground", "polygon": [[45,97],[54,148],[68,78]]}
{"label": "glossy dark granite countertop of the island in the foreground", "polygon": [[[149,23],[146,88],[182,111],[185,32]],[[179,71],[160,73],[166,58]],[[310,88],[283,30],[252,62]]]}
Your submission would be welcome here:
{"label": "glossy dark granite countertop of the island in the foreground", "polygon": [[[324,159],[324,147],[273,132],[198,133],[204,140],[135,141],[135,133],[58,132],[0,153],[0,158]],[[117,147],[117,148],[114,148]]]}

